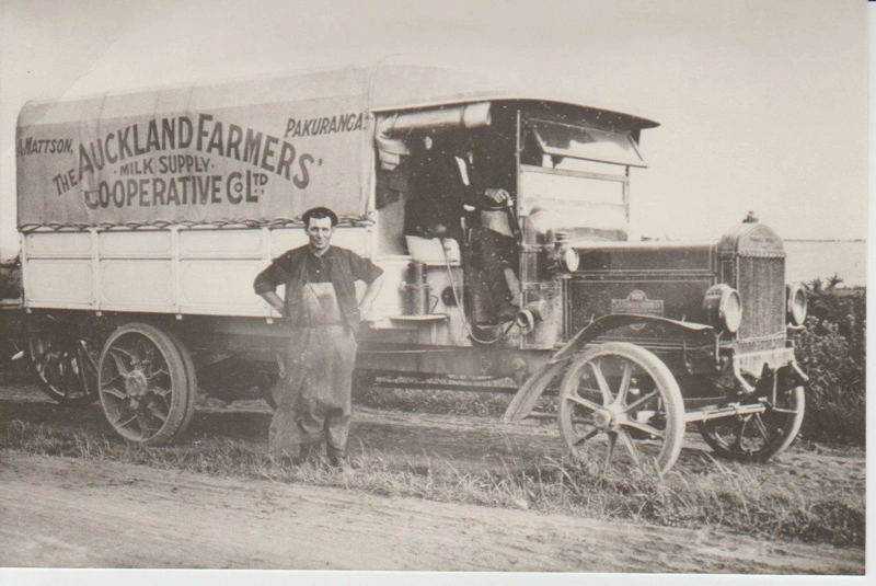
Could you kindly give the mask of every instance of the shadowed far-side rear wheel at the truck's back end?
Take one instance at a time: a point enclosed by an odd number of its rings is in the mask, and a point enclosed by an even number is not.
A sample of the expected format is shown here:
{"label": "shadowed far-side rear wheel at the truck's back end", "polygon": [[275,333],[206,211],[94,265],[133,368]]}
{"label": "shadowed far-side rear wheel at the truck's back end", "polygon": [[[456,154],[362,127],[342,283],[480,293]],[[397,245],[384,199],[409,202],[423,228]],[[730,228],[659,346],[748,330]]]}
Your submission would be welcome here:
{"label": "shadowed far-side rear wheel at the truck's back end", "polygon": [[45,317],[28,325],[27,354],[39,388],[61,405],[97,399],[100,344],[79,324]]}

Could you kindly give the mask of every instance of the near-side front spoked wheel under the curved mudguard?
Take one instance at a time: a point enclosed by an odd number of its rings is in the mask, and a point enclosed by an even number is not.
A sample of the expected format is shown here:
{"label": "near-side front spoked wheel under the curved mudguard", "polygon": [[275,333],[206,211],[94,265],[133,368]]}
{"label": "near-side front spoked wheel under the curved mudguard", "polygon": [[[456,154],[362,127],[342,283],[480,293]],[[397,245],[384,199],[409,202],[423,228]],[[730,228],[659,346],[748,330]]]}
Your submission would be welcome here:
{"label": "near-side front spoked wheel under the curved mudguard", "polygon": [[601,458],[606,470],[666,473],[684,439],[684,403],[672,372],[653,353],[622,342],[593,346],[573,363],[560,389],[558,421],[573,457]]}

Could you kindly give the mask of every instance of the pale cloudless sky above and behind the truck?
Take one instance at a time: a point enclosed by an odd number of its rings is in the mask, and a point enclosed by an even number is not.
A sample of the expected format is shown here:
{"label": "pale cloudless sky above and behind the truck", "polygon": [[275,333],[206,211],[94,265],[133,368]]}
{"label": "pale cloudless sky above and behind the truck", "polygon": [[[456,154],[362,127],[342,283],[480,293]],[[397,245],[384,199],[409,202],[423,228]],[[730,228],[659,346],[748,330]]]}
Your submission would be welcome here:
{"label": "pale cloudless sky above and behind the truck", "polygon": [[[862,0],[0,0],[0,257],[31,99],[396,59],[655,119],[631,234],[866,238]],[[595,103],[596,103],[595,102]]]}

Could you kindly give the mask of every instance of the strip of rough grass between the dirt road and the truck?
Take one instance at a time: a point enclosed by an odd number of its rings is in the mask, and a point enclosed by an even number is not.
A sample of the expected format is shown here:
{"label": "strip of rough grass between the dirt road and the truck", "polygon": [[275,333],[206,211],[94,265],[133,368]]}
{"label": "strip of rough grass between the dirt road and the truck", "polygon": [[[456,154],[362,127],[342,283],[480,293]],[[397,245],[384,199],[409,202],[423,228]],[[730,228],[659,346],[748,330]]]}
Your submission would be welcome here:
{"label": "strip of rough grass between the dirt road and the truck", "polygon": [[266,455],[263,446],[242,440],[208,438],[150,448],[18,420],[0,428],[0,449],[839,547],[863,547],[865,537],[863,496],[807,496],[793,485],[768,486],[744,466],[714,460],[695,472],[672,471],[666,478],[638,470],[603,475],[553,460],[533,460],[522,471],[461,473],[447,466],[400,466],[362,450],[350,468],[338,471],[319,464],[291,468]]}

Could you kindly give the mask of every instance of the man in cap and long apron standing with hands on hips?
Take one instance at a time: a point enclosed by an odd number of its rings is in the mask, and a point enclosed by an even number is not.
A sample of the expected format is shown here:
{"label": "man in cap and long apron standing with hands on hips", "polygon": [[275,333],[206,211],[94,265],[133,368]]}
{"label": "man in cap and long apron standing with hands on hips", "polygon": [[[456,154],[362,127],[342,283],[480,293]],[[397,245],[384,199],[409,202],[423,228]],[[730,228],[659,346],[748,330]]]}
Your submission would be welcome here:
{"label": "man in cap and long apron standing with hands on hips", "polygon": [[[298,462],[325,440],[332,466],[343,461],[351,413],[353,369],[360,315],[383,283],[383,271],[367,258],[331,246],[337,216],[325,207],[303,215],[308,244],[277,257],[253,287],[289,319],[291,337],[286,374],[273,389],[277,410],[268,449]],[[368,287],[356,301],[355,281]],[[286,299],[276,294],[286,285]]]}

